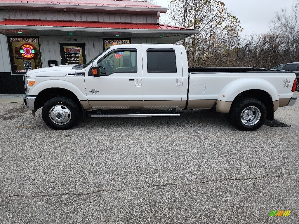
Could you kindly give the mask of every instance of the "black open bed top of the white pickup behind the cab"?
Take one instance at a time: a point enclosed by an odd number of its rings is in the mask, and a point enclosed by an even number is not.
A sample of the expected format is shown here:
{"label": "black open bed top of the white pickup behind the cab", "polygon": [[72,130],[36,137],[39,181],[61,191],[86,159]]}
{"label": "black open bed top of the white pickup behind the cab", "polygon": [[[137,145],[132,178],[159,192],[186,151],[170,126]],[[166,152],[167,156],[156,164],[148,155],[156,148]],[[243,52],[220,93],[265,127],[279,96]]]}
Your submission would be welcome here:
{"label": "black open bed top of the white pickup behind the cab", "polygon": [[281,70],[273,70],[267,68],[251,68],[251,67],[232,67],[232,68],[221,68],[221,67],[210,67],[210,68],[189,68],[190,73],[207,73],[207,72],[217,72],[217,73],[232,73],[232,72],[286,72]]}

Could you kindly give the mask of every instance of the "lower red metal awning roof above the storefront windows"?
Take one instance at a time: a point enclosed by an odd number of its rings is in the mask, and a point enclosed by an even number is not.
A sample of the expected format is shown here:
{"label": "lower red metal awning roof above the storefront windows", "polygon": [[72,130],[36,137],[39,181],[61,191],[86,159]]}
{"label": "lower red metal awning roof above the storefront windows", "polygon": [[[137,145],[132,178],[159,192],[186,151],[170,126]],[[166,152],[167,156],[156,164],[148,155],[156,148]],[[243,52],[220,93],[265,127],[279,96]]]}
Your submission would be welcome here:
{"label": "lower red metal awning roof above the storefront windows", "polygon": [[146,30],[192,30],[185,27],[171,25],[157,25],[152,23],[121,23],[121,22],[89,22],[89,21],[57,21],[39,19],[5,19],[0,25],[19,26],[50,26],[50,27],[87,27],[87,28],[114,28],[114,29],[146,29]]}

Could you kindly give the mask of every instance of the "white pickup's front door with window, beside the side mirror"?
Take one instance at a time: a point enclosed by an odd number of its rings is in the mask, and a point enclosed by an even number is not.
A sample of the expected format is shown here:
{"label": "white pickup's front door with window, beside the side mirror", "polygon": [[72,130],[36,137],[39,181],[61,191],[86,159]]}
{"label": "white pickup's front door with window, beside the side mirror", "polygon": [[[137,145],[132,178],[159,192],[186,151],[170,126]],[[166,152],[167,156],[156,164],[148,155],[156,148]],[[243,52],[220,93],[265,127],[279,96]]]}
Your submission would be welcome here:
{"label": "white pickup's front door with window, beside the side mirror", "polygon": [[[93,109],[143,107],[141,46],[112,50],[98,61],[105,76],[85,76],[86,94]],[[88,72],[88,71],[87,71]]]}

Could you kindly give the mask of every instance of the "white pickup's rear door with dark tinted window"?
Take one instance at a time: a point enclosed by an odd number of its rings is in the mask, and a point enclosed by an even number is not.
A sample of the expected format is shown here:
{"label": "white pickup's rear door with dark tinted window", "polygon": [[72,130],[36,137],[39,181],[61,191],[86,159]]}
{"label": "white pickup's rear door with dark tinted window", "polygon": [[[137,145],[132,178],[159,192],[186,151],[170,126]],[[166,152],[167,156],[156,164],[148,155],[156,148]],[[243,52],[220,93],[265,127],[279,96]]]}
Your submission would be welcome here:
{"label": "white pickup's rear door with dark tinted window", "polygon": [[142,47],[144,108],[180,108],[181,48],[153,46]]}

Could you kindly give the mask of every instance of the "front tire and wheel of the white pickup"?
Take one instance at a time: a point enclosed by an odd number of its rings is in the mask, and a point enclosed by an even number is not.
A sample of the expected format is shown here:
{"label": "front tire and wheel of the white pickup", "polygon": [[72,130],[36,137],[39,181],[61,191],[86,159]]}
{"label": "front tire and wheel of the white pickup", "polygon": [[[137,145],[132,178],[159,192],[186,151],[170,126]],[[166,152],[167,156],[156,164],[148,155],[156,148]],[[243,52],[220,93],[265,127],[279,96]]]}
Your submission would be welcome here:
{"label": "front tire and wheel of the white pickup", "polygon": [[54,97],[42,108],[42,119],[50,128],[67,130],[74,126],[78,119],[78,105],[67,97]]}

